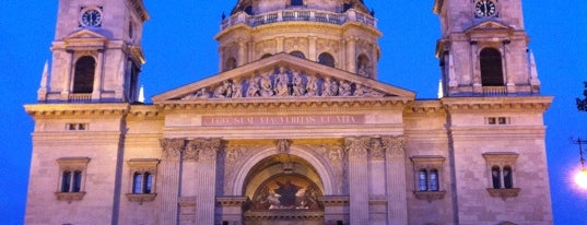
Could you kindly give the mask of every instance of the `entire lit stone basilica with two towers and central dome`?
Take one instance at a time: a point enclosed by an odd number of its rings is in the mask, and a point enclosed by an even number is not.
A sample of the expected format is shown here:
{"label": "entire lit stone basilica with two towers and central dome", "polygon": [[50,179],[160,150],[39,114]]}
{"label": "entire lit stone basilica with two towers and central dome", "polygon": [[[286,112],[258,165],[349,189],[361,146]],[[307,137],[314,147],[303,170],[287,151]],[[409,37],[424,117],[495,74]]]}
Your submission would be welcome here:
{"label": "entire lit stone basilica with two towers and central dome", "polygon": [[431,3],[438,99],[377,80],[362,0],[239,0],[219,73],[142,104],[142,0],[60,0],[25,223],[552,224],[521,1]]}

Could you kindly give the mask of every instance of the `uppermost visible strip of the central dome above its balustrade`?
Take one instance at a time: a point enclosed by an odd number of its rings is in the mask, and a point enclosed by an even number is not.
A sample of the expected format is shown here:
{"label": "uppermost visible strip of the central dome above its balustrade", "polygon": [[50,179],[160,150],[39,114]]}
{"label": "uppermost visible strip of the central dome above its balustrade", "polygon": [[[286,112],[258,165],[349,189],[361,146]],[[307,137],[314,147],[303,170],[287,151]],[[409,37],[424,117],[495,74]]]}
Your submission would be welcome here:
{"label": "uppermost visible strip of the central dome above its balustrade", "polygon": [[231,14],[245,12],[249,15],[272,11],[303,8],[341,13],[349,9],[368,13],[363,0],[238,0]]}

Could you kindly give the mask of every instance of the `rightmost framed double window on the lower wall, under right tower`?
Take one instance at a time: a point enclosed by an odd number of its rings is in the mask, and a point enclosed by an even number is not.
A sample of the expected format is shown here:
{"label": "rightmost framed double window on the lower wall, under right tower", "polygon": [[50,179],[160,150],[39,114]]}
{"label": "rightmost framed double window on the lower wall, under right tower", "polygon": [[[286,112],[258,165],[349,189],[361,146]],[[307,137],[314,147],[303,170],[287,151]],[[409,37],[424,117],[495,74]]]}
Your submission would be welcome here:
{"label": "rightmost framed double window on the lower wall, under right tower", "polygon": [[[517,153],[514,152],[489,152],[483,153],[488,170],[488,192],[493,198],[515,198],[520,189],[516,188]],[[505,173],[507,171],[507,175]],[[496,178],[496,179],[494,179]]]}

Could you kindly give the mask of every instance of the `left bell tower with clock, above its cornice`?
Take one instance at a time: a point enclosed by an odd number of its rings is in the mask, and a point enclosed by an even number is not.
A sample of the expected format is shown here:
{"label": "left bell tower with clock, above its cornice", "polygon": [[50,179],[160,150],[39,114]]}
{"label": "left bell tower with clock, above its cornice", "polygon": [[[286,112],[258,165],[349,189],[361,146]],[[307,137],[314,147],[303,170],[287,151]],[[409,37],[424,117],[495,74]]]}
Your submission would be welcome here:
{"label": "left bell tower with clock, above its cornice", "polygon": [[146,20],[142,0],[60,0],[38,102],[136,102]]}

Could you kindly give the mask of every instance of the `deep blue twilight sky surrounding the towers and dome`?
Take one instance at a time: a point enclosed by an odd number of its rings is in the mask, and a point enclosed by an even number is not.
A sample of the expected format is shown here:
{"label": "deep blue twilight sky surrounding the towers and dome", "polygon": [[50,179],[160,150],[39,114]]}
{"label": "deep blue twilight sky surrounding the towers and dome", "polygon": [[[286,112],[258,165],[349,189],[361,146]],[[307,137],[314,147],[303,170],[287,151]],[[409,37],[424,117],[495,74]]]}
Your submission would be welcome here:
{"label": "deep blue twilight sky surrounding the towers and dome", "polygon": [[[9,0],[0,4],[0,214],[4,224],[22,224],[33,120],[22,105],[36,102],[43,66],[49,60],[58,0]],[[151,14],[144,27],[146,64],[141,84],[146,97],[218,72],[222,12],[236,0],[145,0]],[[434,57],[439,38],[434,0],[365,0],[374,9],[383,49],[379,80],[436,98],[439,69]],[[531,38],[542,94],[553,95],[547,111],[547,154],[555,224],[587,224],[587,190],[572,176],[579,167],[578,146],[587,139],[587,112],[575,98],[587,81],[587,3],[585,0],[524,0],[525,28]],[[149,102],[149,100],[148,100]],[[586,147],[587,149],[587,147]]]}

